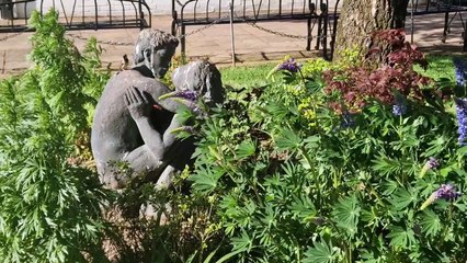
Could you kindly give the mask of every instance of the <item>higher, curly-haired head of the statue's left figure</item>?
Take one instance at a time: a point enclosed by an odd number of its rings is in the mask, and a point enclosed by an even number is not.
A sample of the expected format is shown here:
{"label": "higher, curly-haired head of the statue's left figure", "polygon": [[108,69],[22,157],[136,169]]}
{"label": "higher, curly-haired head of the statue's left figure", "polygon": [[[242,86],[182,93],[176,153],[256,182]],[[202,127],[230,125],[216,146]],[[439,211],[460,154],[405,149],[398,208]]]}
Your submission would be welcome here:
{"label": "higher, curly-haired head of the statue's left figure", "polygon": [[135,45],[134,62],[144,64],[156,78],[163,78],[175,54],[179,39],[159,30],[143,30]]}

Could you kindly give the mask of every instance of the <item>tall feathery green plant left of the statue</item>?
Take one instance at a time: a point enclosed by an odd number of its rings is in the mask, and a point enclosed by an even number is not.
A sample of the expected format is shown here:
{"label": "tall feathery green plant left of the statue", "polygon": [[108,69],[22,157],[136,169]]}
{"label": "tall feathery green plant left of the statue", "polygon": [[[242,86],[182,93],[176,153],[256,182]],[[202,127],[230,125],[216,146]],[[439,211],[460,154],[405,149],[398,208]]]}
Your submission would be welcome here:
{"label": "tall feathery green plant left of the statue", "polygon": [[32,24],[34,67],[0,82],[0,261],[105,262],[107,193],[69,158],[95,102],[86,88],[101,89],[106,73],[64,37],[57,13],[34,13]]}

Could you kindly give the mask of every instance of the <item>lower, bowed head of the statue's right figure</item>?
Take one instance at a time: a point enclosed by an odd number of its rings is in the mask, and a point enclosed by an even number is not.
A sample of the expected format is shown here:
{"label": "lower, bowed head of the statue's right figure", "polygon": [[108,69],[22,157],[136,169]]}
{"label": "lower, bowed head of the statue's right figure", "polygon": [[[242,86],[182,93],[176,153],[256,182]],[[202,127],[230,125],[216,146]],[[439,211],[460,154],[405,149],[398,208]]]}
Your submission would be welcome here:
{"label": "lower, bowed head of the statue's right figure", "polygon": [[220,72],[214,64],[206,60],[176,68],[172,73],[172,81],[176,90],[196,91],[208,105],[224,102]]}

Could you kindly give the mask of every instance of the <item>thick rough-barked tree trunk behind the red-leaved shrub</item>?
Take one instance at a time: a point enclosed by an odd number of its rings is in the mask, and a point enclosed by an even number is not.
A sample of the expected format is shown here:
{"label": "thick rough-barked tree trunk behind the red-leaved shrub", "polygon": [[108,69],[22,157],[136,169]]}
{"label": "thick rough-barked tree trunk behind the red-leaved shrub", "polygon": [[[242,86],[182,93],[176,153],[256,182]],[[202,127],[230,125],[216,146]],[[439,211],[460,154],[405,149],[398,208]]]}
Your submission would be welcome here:
{"label": "thick rough-barked tree trunk behind the red-leaved shrub", "polygon": [[409,0],[343,0],[339,19],[334,59],[344,49],[366,54],[374,47],[372,33],[402,27]]}

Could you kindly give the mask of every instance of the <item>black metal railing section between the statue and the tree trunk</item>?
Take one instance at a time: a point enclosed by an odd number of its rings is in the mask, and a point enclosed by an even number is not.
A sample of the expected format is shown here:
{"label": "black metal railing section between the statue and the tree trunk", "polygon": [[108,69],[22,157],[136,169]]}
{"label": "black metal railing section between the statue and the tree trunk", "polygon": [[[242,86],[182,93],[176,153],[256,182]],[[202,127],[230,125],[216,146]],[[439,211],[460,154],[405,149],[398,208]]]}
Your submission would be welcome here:
{"label": "black metal railing section between the statue and the tree trunk", "polygon": [[[322,46],[324,57],[331,57],[340,0],[236,0],[232,23],[306,20],[306,49]],[[230,23],[230,0],[172,0],[172,34],[181,37],[182,54],[185,54],[186,26]],[[312,35],[314,28],[317,35]]]}

